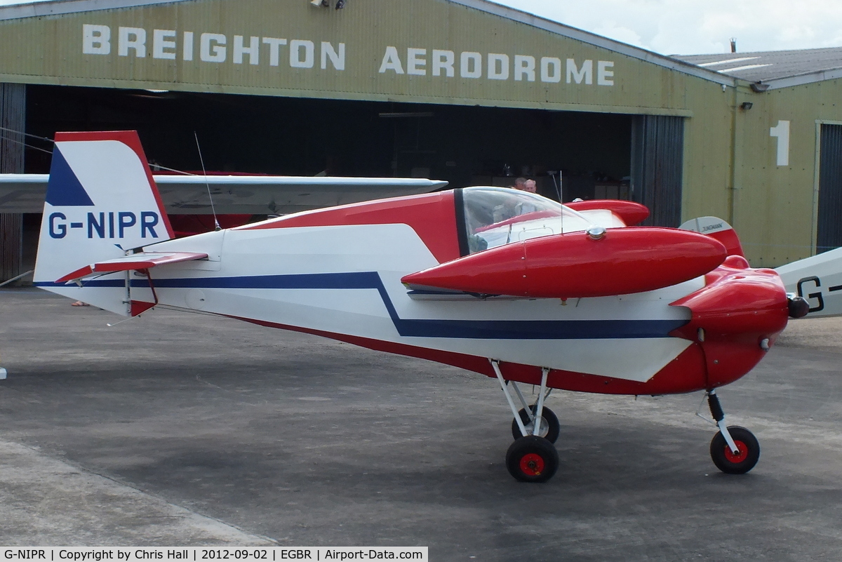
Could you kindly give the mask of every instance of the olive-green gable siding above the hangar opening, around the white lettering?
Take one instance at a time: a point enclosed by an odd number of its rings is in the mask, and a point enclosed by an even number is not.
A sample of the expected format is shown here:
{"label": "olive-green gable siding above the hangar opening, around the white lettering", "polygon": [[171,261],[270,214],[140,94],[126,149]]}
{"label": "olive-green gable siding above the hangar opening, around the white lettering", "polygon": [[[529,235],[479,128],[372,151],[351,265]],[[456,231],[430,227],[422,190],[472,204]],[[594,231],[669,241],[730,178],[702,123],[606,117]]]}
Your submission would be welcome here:
{"label": "olive-green gable siding above the hangar opening, around the white lettering", "polygon": [[[88,43],[88,51],[108,50],[108,54],[83,53],[85,24],[108,29],[108,41]],[[142,29],[145,49],[138,53],[125,48],[121,54],[120,28]],[[175,45],[157,55],[155,45],[164,43],[156,42],[156,29],[172,31],[165,40]],[[193,34],[192,40],[185,40],[185,32]],[[225,45],[212,44],[224,46],[224,57],[219,51],[224,60],[200,60],[204,33],[220,34],[219,39],[224,39]],[[244,38],[243,45],[257,38],[254,58],[242,55],[240,61],[235,60],[237,35]],[[32,40],[34,37],[38,40]],[[286,41],[278,47],[276,66],[270,58],[274,47],[264,44],[265,38]],[[308,48],[293,48],[294,40],[312,45],[311,67],[290,66],[290,52],[292,59],[303,61]],[[337,51],[340,44],[345,45],[344,70],[334,68],[323,43]],[[185,45],[192,48],[192,56],[184,55]],[[395,50],[399,68],[383,68],[389,47]],[[418,61],[414,64],[410,61],[413,49]],[[621,45],[617,50],[591,45],[446,0],[354,0],[343,10],[314,8],[305,0],[197,0],[0,22],[0,78],[8,82],[689,115],[689,82],[706,81],[623,54],[624,49],[633,50]],[[454,76],[446,76],[446,69],[434,75],[434,50],[452,54]],[[481,59],[477,77],[463,76],[463,53]],[[506,64],[495,63],[489,70],[495,56]],[[515,72],[518,56],[531,57],[534,75]],[[547,63],[546,79],[542,79],[545,57],[553,62]],[[648,58],[656,60],[658,56]],[[578,77],[581,83],[577,83],[575,72],[568,74],[568,60],[577,72],[590,69]],[[464,70],[472,68],[466,64]],[[500,75],[498,79],[492,76],[494,71]]]}

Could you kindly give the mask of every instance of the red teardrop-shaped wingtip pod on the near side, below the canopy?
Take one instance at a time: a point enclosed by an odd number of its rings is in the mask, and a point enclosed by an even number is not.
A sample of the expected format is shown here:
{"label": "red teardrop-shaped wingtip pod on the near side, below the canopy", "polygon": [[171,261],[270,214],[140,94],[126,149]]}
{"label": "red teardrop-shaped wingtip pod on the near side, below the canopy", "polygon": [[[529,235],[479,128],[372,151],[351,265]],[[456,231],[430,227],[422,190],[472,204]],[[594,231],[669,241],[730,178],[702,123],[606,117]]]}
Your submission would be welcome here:
{"label": "red teardrop-shaped wingtip pod on the near side, below the canopy", "polygon": [[600,297],[660,289],[716,268],[725,247],[666,228],[542,236],[461,257],[402,278],[404,284],[536,298]]}

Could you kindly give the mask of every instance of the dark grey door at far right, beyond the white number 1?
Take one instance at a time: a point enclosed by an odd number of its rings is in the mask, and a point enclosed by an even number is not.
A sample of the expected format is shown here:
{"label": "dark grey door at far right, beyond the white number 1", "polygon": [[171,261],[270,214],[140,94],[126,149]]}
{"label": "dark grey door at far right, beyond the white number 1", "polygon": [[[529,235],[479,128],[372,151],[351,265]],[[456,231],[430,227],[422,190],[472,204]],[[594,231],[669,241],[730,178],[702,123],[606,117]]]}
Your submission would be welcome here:
{"label": "dark grey door at far right, beyond the white number 1", "polygon": [[842,125],[822,124],[819,143],[816,253],[842,246]]}

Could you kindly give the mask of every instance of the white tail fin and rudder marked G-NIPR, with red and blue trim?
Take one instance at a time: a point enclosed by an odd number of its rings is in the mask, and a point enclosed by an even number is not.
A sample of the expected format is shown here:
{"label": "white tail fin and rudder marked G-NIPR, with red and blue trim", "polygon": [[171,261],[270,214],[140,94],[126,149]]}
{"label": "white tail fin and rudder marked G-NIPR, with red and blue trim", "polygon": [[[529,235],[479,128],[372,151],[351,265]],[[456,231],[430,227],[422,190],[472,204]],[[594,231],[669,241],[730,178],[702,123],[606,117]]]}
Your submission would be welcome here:
{"label": "white tail fin and rudder marked G-NIPR, with red and blue trim", "polygon": [[129,272],[75,284],[58,279],[133,248],[173,238],[136,131],[56,133],[35,285],[129,314]]}

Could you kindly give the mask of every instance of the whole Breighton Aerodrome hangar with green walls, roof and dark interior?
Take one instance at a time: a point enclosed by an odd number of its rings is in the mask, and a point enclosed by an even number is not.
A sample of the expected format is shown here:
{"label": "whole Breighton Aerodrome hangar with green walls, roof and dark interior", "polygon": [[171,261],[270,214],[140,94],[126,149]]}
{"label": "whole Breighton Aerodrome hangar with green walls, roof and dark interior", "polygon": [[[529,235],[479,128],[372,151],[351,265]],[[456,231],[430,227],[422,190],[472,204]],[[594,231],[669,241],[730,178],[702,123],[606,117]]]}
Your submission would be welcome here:
{"label": "whole Breighton Aerodrome hangar with green walls, roof and dark interior", "polygon": [[[525,175],[655,225],[716,215],[754,266],[842,246],[842,50],[679,60],[486,0],[335,3],[0,8],[0,172],[49,169],[49,142],[15,131],[107,129],[198,170],[195,132],[210,170]],[[0,200],[0,278],[31,260],[38,213]]]}

